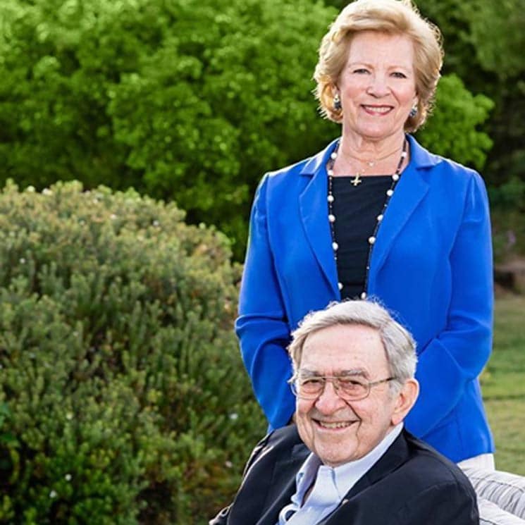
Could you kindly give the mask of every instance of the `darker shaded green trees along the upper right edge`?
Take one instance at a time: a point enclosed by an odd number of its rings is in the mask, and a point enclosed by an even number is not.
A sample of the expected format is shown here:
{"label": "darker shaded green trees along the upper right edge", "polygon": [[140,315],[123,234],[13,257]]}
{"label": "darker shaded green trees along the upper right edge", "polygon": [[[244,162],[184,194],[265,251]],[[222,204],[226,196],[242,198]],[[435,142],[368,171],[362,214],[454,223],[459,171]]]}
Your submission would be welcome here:
{"label": "darker shaded green trees along the upper right edge", "polygon": [[[454,71],[495,108],[484,128],[494,142],[483,176],[493,209],[497,259],[525,253],[525,0],[418,0],[445,35],[445,71]],[[521,185],[519,183],[521,181]]]}

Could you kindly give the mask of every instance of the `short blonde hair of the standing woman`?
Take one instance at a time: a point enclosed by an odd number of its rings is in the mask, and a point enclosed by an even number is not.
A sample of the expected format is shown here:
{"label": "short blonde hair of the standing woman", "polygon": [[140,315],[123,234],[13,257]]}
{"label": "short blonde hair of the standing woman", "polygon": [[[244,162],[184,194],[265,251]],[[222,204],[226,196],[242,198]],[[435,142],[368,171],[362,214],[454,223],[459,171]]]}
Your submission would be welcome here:
{"label": "short blonde hair of the standing woman", "polygon": [[334,122],[342,121],[342,109],[333,104],[334,87],[347,61],[352,38],[361,31],[405,35],[414,44],[417,113],[409,116],[404,130],[417,130],[431,111],[443,65],[441,32],[422,18],[412,0],[356,0],[348,4],[321,40],[314,80],[321,113]]}

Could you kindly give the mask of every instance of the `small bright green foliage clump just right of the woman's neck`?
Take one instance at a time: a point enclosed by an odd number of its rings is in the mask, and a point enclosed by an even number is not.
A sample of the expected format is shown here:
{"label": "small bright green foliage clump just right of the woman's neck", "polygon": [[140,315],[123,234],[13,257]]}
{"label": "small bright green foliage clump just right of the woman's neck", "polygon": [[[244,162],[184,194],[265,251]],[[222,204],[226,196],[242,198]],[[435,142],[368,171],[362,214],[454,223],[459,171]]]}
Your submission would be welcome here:
{"label": "small bright green foliage clump just right of the woman's neck", "polygon": [[447,75],[439,82],[431,121],[418,137],[432,152],[481,169],[492,141],[477,128],[493,106],[488,97],[472,95],[457,75]]}

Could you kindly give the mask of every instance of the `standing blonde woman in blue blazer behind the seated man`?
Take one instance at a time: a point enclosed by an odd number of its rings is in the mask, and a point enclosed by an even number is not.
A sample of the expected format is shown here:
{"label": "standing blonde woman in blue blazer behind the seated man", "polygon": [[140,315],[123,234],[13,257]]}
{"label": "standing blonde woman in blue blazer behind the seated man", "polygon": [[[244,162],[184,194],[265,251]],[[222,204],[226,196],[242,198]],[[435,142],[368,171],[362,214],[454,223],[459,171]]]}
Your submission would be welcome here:
{"label": "standing blonde woman in blue blazer behind the seated man", "polygon": [[302,317],[333,300],[379,299],[418,345],[421,395],[407,429],[452,461],[493,468],[478,383],[493,315],[486,189],[409,135],[426,120],[442,60],[439,30],[409,0],[342,10],[314,75],[341,137],[261,180],[236,331],[277,428],[294,412],[286,347]]}

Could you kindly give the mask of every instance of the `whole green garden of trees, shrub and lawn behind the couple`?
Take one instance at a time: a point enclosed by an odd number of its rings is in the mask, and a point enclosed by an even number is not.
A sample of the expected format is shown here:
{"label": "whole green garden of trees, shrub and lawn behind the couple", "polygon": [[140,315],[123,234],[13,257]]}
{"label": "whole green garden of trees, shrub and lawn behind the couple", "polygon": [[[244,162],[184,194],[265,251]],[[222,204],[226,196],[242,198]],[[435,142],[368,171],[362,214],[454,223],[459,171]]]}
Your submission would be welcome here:
{"label": "whole green garden of trees, shrub and lawn behind the couple", "polygon": [[[417,137],[483,174],[519,268],[525,0],[417,4],[445,37]],[[2,1],[0,524],[200,525],[232,497],[265,428],[232,332],[249,204],[338,135],[311,75],[342,5]],[[525,474],[525,299],[503,284],[483,391]]]}

